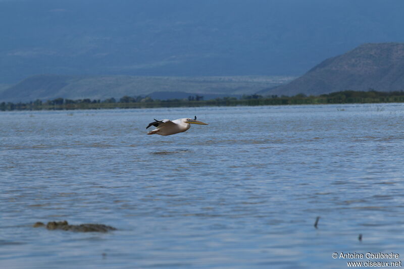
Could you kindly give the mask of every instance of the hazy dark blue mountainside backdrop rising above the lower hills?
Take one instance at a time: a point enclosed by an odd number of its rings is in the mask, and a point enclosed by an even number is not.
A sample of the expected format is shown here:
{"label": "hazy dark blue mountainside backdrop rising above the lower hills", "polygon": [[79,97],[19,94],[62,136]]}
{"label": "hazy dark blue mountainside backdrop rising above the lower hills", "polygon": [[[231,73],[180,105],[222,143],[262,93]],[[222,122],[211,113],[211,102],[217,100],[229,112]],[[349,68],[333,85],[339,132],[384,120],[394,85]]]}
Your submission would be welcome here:
{"label": "hazy dark blue mountainside backdrop rising above the lower hills", "polygon": [[404,42],[402,0],[0,0],[0,83],[37,74],[301,75]]}

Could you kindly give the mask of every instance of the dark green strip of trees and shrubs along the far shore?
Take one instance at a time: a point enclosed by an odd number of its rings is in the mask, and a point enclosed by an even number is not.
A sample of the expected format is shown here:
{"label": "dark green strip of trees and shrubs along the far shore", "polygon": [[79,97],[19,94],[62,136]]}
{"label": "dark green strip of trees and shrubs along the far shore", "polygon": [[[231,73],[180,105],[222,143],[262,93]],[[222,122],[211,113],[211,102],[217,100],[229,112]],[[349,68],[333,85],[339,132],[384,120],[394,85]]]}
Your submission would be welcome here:
{"label": "dark green strip of trees and shrubs along the far shore", "polygon": [[157,100],[150,97],[123,96],[119,100],[64,99],[35,100],[26,103],[1,102],[1,111],[13,110],[86,110],[86,109],[140,109],[155,107],[192,107],[192,106],[234,106],[234,105],[287,105],[287,104],[336,104],[336,103],[389,103],[404,102],[404,91],[339,91],[318,96],[261,96],[243,95],[240,98],[223,97],[204,100],[203,96],[189,96],[185,99]]}

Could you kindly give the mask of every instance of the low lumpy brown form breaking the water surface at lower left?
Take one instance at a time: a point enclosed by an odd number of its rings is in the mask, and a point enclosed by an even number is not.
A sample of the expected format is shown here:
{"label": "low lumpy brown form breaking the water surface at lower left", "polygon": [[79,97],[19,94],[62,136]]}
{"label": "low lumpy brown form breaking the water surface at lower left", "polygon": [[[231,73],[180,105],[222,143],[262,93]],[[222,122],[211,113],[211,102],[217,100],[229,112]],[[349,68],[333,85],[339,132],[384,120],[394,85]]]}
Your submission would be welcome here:
{"label": "low lumpy brown form breaking the water surface at lower left", "polygon": [[[33,227],[44,227],[45,225],[41,222],[37,222]],[[116,228],[104,224],[80,224],[80,225],[69,225],[67,221],[63,222],[48,222],[46,225],[48,230],[64,230],[72,232],[101,232],[106,233],[109,231],[114,231]]]}

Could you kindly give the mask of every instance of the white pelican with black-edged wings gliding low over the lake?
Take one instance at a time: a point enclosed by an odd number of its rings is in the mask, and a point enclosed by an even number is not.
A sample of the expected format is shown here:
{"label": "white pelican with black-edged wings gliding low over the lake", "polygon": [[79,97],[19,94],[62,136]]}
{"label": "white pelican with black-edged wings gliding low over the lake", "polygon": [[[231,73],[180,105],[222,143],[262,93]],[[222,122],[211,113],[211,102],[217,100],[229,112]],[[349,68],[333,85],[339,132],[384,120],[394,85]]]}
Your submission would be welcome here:
{"label": "white pelican with black-edged wings gliding low over the lake", "polygon": [[191,125],[190,124],[201,124],[201,125],[209,125],[207,123],[203,123],[195,119],[178,119],[174,121],[170,121],[168,119],[158,121],[154,119],[154,122],[151,122],[147,125],[146,129],[149,128],[151,125],[155,126],[156,129],[153,131],[149,131],[147,134],[159,134],[159,135],[172,135],[177,133],[182,133],[188,130]]}

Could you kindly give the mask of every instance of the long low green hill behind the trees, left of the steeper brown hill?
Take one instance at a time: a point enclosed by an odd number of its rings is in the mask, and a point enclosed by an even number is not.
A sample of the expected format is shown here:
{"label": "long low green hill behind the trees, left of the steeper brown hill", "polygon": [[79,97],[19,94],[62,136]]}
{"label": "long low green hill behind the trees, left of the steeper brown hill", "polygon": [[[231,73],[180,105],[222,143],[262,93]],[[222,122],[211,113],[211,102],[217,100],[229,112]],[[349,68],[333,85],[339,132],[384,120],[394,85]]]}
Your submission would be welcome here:
{"label": "long low green hill behind the trees, left of the steeper brown hill", "polygon": [[155,99],[183,98],[190,94],[205,99],[253,94],[289,82],[293,77],[138,77],[36,75],[0,91],[1,101],[33,101],[55,98],[107,99],[149,95]]}

